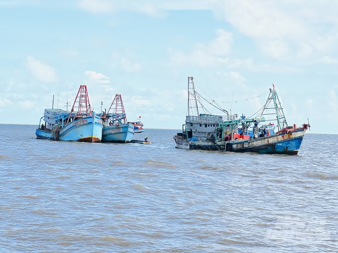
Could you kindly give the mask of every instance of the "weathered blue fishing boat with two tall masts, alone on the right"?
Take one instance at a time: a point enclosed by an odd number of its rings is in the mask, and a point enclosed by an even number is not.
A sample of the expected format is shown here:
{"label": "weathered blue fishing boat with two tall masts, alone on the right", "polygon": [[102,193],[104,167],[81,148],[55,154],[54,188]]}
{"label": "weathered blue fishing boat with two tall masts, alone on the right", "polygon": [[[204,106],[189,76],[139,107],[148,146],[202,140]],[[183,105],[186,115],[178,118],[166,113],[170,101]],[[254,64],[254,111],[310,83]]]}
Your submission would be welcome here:
{"label": "weathered blue fishing boat with two tall masts, alone on the right", "polygon": [[250,118],[230,115],[220,107],[226,115],[200,114],[206,110],[202,99],[207,101],[188,77],[188,113],[182,132],[173,137],[177,148],[296,155],[310,127],[288,126],[274,85],[265,105]]}

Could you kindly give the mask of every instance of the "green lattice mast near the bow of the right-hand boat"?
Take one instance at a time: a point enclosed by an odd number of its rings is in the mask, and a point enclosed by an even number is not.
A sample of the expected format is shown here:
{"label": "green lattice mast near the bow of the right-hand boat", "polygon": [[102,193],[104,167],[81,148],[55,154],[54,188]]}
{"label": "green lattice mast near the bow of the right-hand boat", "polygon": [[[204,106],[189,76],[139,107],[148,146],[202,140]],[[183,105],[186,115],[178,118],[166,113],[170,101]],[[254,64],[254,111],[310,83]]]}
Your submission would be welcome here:
{"label": "green lattice mast near the bow of the right-hand boat", "polygon": [[[269,107],[271,101],[273,102],[273,107]],[[270,94],[266,100],[260,119],[262,119],[264,115],[276,115],[278,131],[288,126],[274,85],[273,89],[270,88]]]}

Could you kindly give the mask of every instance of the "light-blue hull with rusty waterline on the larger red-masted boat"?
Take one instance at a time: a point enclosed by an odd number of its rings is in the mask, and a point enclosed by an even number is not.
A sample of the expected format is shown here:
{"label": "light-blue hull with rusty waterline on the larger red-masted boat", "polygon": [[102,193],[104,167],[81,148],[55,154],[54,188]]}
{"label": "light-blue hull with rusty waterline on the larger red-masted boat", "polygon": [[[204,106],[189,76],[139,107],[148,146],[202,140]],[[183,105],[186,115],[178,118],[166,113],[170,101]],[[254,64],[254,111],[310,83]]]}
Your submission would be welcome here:
{"label": "light-blue hull with rusty waterline on the larger red-masted boat", "polygon": [[100,142],[102,127],[102,120],[98,116],[87,116],[65,125],[54,137],[65,141]]}

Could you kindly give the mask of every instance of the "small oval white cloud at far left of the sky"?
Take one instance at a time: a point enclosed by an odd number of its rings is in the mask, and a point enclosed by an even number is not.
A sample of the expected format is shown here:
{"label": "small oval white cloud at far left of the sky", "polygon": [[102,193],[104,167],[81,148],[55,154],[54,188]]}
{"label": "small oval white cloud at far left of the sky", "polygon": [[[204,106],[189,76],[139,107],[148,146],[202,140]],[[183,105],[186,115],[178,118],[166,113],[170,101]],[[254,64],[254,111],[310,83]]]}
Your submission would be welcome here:
{"label": "small oval white cloud at far left of the sky", "polygon": [[56,80],[54,68],[41,63],[40,61],[34,59],[34,57],[28,56],[26,65],[36,79],[44,82],[54,82]]}

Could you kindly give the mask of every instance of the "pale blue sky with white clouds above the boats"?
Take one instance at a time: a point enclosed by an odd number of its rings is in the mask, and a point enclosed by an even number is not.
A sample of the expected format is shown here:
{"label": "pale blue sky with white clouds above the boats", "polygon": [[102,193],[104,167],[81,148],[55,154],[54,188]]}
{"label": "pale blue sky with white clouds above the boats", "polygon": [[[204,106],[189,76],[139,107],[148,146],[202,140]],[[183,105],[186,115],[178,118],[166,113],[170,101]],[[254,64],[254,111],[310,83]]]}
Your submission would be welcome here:
{"label": "pale blue sky with white clouds above the boats", "polygon": [[337,12],[332,0],[0,0],[0,124],[38,125],[85,84],[97,113],[121,94],[128,121],[181,129],[193,76],[247,117],[274,84],[289,125],[338,134]]}

